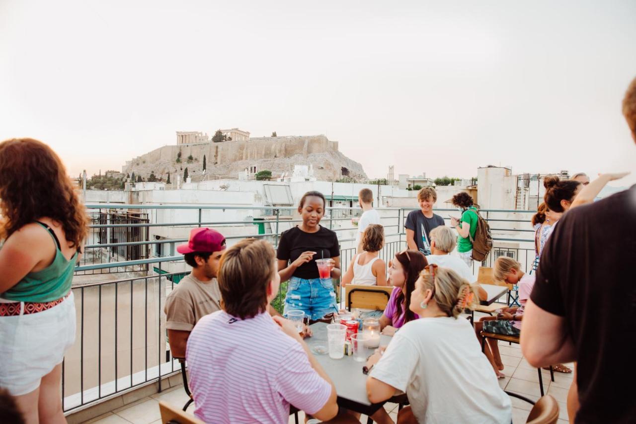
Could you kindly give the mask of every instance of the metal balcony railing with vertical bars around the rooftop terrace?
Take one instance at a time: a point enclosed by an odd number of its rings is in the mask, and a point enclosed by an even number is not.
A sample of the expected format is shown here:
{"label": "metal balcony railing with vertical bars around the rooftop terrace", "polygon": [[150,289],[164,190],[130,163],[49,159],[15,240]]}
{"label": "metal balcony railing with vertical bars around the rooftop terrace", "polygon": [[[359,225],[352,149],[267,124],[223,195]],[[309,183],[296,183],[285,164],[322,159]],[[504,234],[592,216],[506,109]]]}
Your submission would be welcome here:
{"label": "metal balcony railing with vertical bars around the rooftop terrace", "polygon": [[[161,378],[179,372],[178,362],[169,354],[163,305],[174,285],[188,272],[183,257],[173,252],[176,244],[186,243],[191,228],[217,227],[228,244],[245,237],[259,237],[277,246],[280,233],[301,222],[300,218],[285,218],[293,215],[296,208],[291,207],[104,204],[87,207],[92,216],[90,236],[85,258],[76,267],[73,286],[77,337],[62,368],[66,413],[156,381],[161,390]],[[385,262],[406,247],[403,225],[411,210],[378,209],[385,227],[386,243],[380,251]],[[172,212],[164,211],[176,211],[180,219],[174,220]],[[261,211],[272,211],[272,215]],[[455,209],[436,209],[446,220],[450,219],[447,212],[458,215]],[[499,255],[511,255],[529,270],[534,261],[529,218],[534,211],[481,213],[496,236],[493,254],[485,265],[492,265]],[[359,215],[359,209],[334,208],[327,215],[321,225],[338,234],[345,271],[356,250],[353,244],[357,228],[351,216]],[[175,267],[180,269],[175,271]],[[340,281],[335,281],[335,289],[340,296]],[[279,311],[285,295],[286,284],[282,284],[272,302]]]}

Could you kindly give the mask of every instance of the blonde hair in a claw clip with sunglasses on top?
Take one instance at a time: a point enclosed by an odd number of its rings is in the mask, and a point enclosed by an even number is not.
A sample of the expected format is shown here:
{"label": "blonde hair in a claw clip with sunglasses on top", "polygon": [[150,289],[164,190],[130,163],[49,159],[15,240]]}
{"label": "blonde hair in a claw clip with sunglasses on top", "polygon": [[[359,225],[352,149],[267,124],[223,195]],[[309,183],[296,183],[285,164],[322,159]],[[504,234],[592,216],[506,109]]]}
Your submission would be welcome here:
{"label": "blonde hair in a claw clip with sunglasses on top", "polygon": [[434,290],[433,299],[447,316],[457,318],[464,309],[473,309],[479,299],[475,288],[450,268],[429,265],[420,272],[420,278],[422,292]]}

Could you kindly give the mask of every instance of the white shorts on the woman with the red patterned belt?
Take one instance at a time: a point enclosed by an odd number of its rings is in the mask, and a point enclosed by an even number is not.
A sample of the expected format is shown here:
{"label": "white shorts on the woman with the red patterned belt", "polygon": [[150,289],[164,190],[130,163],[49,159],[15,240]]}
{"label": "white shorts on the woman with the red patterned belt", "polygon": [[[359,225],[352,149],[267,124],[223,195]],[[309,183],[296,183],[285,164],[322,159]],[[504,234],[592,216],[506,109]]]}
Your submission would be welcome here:
{"label": "white shorts on the woman with the red patterned belt", "polygon": [[33,392],[74,342],[73,292],[46,311],[0,316],[0,387],[13,396]]}

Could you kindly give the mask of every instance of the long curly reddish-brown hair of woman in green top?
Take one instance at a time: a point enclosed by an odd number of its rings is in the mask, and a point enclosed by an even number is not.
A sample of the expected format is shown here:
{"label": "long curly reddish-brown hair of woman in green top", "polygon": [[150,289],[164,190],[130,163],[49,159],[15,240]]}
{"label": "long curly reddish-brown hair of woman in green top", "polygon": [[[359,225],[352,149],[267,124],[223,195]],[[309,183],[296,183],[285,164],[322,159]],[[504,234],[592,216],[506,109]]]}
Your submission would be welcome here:
{"label": "long curly reddish-brown hair of woman in green top", "polygon": [[48,216],[59,222],[72,247],[88,233],[88,216],[71,178],[52,148],[31,138],[0,143],[0,236]]}

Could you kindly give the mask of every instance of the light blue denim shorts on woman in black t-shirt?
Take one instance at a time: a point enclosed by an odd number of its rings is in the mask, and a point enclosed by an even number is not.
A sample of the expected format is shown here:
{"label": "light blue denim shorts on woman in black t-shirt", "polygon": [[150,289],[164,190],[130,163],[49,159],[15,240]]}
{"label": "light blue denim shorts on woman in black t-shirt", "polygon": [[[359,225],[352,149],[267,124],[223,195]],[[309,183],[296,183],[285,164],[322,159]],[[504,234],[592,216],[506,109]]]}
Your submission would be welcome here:
{"label": "light blue denim shorts on woman in black t-shirt", "polygon": [[325,314],[337,312],[336,293],[333,291],[331,278],[290,278],[283,315],[287,315],[287,311],[292,309],[304,311],[305,316],[311,320],[319,320]]}

